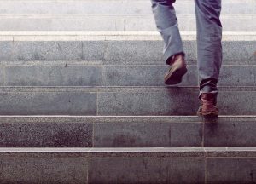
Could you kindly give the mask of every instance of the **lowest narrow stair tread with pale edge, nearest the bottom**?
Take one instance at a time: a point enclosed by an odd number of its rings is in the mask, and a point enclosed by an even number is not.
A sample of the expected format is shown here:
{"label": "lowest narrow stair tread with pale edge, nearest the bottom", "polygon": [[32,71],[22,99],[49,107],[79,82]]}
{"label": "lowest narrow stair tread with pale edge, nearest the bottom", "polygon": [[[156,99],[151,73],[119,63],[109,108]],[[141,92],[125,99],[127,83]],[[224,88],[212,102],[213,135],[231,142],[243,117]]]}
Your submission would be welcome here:
{"label": "lowest narrow stair tread with pale edge, nearest the bottom", "polygon": [[163,158],[163,157],[256,157],[256,147],[137,147],[137,148],[0,148],[1,158],[12,157],[89,157],[89,158]]}

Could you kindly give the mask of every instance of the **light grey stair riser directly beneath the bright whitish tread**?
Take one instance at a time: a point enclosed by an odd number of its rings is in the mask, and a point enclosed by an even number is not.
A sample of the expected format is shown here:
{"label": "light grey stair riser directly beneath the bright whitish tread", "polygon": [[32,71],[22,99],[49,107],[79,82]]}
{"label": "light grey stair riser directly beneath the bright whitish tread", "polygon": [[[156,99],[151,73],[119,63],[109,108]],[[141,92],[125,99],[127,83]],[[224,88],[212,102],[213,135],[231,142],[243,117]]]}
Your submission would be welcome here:
{"label": "light grey stair riser directly beneath the bright whitish tread", "polygon": [[[187,60],[196,60],[195,40],[184,40],[183,44]],[[224,60],[255,60],[255,48],[255,41],[224,41]],[[2,41],[0,60],[114,60],[116,64],[125,60],[144,64],[146,60],[163,60],[162,50],[161,40]]]}

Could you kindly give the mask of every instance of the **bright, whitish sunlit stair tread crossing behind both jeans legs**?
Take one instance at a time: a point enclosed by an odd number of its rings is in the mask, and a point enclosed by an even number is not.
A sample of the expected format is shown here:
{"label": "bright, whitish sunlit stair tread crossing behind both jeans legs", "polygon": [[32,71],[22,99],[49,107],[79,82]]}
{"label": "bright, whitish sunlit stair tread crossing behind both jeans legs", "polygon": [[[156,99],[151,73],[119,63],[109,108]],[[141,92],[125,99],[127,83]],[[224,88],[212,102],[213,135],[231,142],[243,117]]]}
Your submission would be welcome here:
{"label": "bright, whitish sunlit stair tread crossing behind both jeans legs", "polygon": [[[195,31],[181,31],[183,41],[195,40]],[[0,40],[4,41],[114,41],[114,40],[162,40],[156,31],[0,31]],[[224,31],[223,41],[255,41],[254,31]]]}

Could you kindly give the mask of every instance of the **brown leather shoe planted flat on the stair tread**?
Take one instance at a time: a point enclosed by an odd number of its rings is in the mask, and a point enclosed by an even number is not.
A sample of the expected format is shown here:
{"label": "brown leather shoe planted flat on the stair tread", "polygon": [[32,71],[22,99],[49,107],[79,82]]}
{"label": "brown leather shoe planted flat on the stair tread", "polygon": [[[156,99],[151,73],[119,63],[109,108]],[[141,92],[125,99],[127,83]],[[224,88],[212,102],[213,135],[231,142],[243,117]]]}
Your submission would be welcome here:
{"label": "brown leather shoe planted flat on the stair tread", "polygon": [[216,117],[218,116],[217,97],[212,93],[201,94],[201,106],[197,111],[198,116]]}

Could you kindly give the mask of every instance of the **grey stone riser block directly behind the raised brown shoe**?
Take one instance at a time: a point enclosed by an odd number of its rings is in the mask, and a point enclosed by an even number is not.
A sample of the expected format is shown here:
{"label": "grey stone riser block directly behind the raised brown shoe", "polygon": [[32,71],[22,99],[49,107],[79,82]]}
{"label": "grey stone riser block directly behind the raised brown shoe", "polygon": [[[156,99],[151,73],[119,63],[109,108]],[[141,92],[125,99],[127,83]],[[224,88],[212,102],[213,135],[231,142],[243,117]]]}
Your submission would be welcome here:
{"label": "grey stone riser block directly behind the raised brown shoe", "polygon": [[[104,66],[103,86],[163,86],[168,66]],[[188,66],[183,85],[197,85],[196,66]]]}

